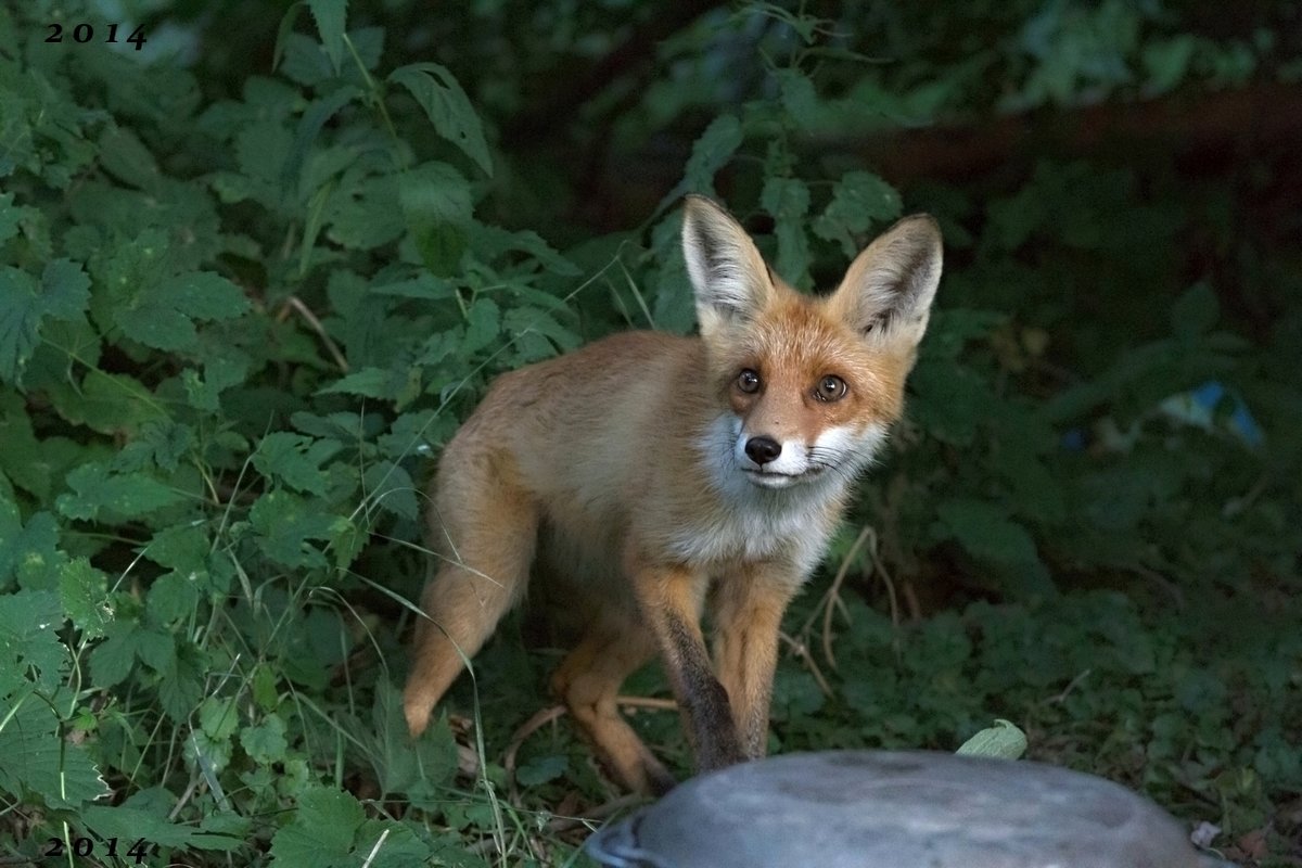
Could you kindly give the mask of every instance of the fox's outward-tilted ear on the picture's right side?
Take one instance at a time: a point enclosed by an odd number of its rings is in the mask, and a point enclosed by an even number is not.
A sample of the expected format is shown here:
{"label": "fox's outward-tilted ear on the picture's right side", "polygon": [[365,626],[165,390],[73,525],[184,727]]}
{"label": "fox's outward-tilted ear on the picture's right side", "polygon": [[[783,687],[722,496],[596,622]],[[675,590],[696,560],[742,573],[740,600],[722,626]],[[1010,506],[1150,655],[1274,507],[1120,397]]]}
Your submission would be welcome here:
{"label": "fox's outward-tilted ear on the picture's right side", "polygon": [[855,256],[828,305],[874,342],[917,345],[940,284],[940,226],[905,217]]}

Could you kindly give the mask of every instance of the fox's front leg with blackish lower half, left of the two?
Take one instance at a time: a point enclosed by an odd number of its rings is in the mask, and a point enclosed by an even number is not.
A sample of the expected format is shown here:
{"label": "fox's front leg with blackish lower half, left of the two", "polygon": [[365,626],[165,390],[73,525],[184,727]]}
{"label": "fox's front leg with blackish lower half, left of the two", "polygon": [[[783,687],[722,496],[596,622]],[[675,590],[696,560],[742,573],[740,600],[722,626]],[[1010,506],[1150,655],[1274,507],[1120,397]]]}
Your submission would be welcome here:
{"label": "fox's front leg with blackish lower half, left of the two", "polygon": [[642,569],[633,579],[638,606],[660,647],[702,772],[746,759],[728,692],[715,678],[700,635],[704,582],[704,576],[678,566]]}

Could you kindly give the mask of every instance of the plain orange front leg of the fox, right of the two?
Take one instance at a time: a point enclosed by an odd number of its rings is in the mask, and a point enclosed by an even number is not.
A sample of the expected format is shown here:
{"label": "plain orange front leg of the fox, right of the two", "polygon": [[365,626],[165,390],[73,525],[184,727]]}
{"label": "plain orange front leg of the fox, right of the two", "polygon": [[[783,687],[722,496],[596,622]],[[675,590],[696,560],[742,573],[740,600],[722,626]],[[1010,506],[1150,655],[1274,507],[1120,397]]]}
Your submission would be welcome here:
{"label": "plain orange front leg of the fox, right of the two", "polygon": [[715,588],[715,661],[749,759],[768,750],[779,631],[798,587],[793,570],[763,565],[729,575]]}

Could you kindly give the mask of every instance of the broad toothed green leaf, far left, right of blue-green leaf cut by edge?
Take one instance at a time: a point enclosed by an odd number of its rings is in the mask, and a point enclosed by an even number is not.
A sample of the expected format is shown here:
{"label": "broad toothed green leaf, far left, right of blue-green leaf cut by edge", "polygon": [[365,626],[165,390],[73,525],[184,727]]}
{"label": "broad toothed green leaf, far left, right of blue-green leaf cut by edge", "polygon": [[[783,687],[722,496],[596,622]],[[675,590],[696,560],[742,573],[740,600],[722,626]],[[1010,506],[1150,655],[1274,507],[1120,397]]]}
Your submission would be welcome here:
{"label": "broad toothed green leaf, far left, right of blue-green leaf cut by edge", "polygon": [[212,272],[191,272],[146,285],[113,314],[129,338],[178,351],[198,349],[193,320],[234,319],[247,310],[249,299],[229,280]]}

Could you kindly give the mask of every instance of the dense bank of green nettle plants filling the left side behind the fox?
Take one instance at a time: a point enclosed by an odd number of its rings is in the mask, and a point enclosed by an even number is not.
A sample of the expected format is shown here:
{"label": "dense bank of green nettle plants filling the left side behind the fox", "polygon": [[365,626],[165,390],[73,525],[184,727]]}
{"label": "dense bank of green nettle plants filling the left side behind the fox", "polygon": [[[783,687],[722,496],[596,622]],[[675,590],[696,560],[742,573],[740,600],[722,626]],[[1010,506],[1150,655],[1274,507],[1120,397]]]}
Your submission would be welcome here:
{"label": "dense bank of green nettle plants filling the left side behind the fox", "polygon": [[449,70],[311,10],[211,104],[0,13],[0,790],[43,830],[230,850],[297,796],[273,854],[323,864],[322,830],[415,843],[320,763],[414,800],[456,772],[447,730],[391,752],[393,630],[349,600],[401,612],[368,576],[419,582],[422,463],[491,371],[579,342],[579,269],[477,217]]}

